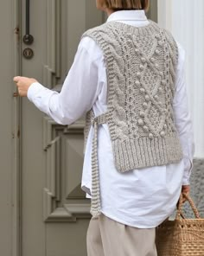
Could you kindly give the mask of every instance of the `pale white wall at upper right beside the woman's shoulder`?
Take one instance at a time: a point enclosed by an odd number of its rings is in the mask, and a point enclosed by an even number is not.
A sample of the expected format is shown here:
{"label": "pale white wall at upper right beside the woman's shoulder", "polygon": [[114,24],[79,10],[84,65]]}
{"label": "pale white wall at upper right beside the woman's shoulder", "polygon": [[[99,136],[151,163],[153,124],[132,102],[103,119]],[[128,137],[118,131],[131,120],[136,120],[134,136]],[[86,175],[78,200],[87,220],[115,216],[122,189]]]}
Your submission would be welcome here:
{"label": "pale white wall at upper right beside the woman's shoulder", "polygon": [[203,0],[158,0],[158,22],[175,35],[186,51],[188,105],[194,125],[196,158],[204,158],[203,10]]}

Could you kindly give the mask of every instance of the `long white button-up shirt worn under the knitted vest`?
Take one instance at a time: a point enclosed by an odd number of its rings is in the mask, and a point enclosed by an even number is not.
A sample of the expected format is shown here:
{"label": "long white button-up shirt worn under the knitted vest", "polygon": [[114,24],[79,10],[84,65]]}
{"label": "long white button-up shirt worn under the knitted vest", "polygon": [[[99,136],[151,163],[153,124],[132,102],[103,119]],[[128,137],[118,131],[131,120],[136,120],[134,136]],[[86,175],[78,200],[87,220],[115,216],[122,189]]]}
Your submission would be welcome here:
{"label": "long white button-up shirt worn under the knitted vest", "polygon": [[[107,22],[118,21],[133,26],[149,23],[143,10],[117,11]],[[182,184],[189,183],[193,167],[194,135],[184,75],[185,53],[177,43],[179,59],[176,70],[175,98],[173,102],[175,125],[179,133],[184,158],[180,163],[131,170],[121,174],[113,162],[112,143],[107,125],[98,132],[99,182],[101,211],[115,221],[131,227],[156,227],[175,210]],[[96,116],[107,108],[107,78],[102,50],[91,38],[81,40],[61,93],[34,83],[29,87],[28,98],[42,112],[57,123],[69,125],[91,108]],[[88,135],[81,187],[92,193],[92,137]],[[87,197],[91,197],[87,195]]]}

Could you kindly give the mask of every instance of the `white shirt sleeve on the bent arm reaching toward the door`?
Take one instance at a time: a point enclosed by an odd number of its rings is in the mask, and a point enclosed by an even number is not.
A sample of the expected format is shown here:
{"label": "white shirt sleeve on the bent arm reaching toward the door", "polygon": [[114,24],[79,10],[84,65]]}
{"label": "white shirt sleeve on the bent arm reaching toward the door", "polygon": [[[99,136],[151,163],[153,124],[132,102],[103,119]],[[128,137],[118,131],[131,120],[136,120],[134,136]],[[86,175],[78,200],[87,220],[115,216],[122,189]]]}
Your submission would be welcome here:
{"label": "white shirt sleeve on the bent arm reaching toward the door", "polygon": [[82,117],[92,108],[101,90],[99,70],[104,63],[98,60],[100,55],[87,50],[88,40],[86,37],[81,40],[61,93],[38,82],[29,87],[29,100],[58,124],[70,125]]}

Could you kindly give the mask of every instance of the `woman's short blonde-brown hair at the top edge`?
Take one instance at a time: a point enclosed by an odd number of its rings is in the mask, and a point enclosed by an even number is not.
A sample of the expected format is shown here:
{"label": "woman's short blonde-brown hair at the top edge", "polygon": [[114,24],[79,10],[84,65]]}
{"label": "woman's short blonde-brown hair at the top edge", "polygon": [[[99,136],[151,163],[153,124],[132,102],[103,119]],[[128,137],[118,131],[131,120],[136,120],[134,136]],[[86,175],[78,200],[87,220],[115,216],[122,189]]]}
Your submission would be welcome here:
{"label": "woman's short blonde-brown hair at the top edge", "polygon": [[150,0],[104,0],[105,7],[111,10],[145,10],[150,7]]}

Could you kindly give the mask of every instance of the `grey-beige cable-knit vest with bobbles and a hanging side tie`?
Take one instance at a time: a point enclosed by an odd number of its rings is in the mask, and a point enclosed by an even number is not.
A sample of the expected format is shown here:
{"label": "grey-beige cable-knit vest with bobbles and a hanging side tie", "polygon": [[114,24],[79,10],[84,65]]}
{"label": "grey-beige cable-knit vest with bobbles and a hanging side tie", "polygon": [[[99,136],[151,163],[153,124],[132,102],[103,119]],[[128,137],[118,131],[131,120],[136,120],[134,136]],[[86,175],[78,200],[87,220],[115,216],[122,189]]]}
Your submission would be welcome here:
{"label": "grey-beige cable-knit vest with bobbles and a hanging side tie", "polygon": [[[106,22],[83,36],[91,37],[102,49],[108,81],[107,111],[97,118],[92,111],[86,115],[85,138],[90,126],[95,128],[92,189],[99,197],[98,125],[109,126],[119,172],[182,159],[172,106],[178,49],[172,35],[152,21],[140,28]],[[93,199],[93,215],[99,214],[97,200]]]}

